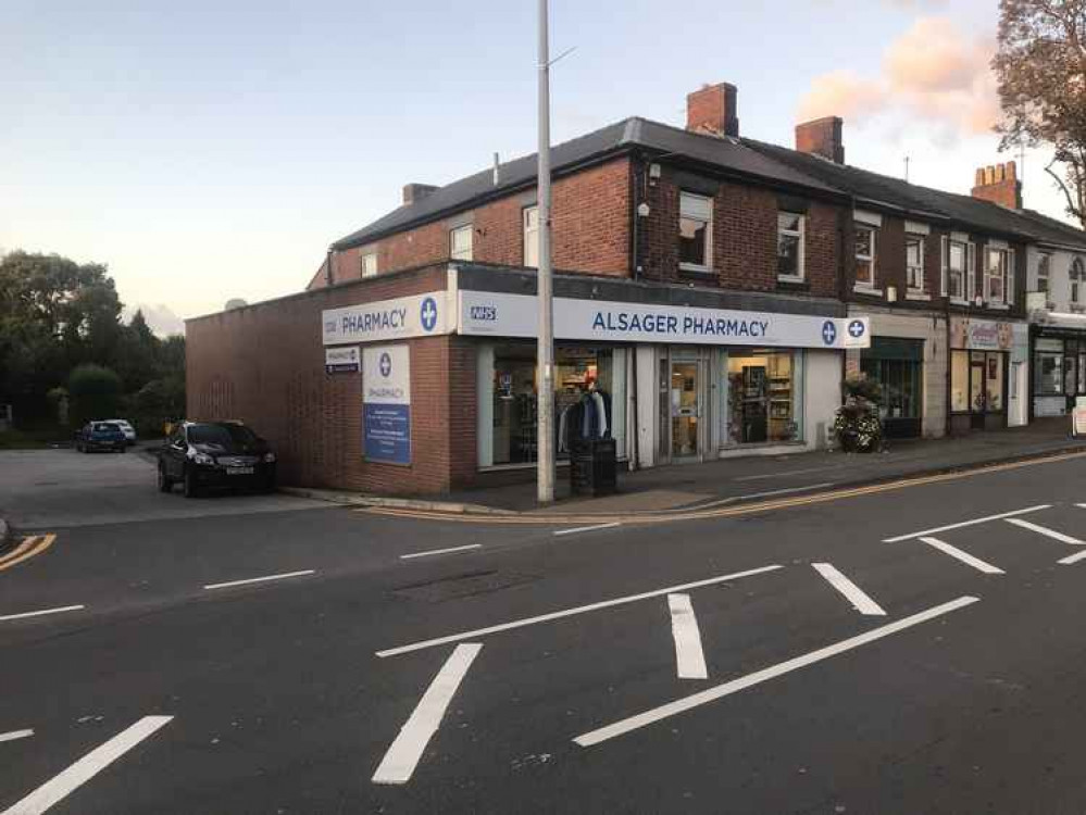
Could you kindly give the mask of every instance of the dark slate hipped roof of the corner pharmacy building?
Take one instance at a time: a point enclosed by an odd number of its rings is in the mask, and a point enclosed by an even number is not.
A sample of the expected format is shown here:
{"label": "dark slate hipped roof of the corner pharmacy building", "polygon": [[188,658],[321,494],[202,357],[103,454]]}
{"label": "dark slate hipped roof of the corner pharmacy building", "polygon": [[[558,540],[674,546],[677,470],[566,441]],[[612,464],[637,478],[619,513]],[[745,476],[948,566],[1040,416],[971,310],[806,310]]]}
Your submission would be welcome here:
{"label": "dark slate hipped roof of the corner pharmacy building", "polygon": [[[638,148],[656,151],[659,154],[681,154],[725,173],[778,186],[799,187],[834,196],[842,195],[831,185],[775,161],[737,139],[704,136],[637,116],[556,145],[551,148],[551,167],[554,173],[559,173],[563,168]],[[332,248],[349,249],[409,226],[476,206],[483,201],[508,195],[517,188],[534,185],[536,154],[532,153],[500,164],[500,181],[497,186],[492,183],[492,174],[491,167],[439,187],[422,200],[399,206],[362,229],[340,238],[332,244]]]}

